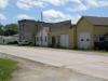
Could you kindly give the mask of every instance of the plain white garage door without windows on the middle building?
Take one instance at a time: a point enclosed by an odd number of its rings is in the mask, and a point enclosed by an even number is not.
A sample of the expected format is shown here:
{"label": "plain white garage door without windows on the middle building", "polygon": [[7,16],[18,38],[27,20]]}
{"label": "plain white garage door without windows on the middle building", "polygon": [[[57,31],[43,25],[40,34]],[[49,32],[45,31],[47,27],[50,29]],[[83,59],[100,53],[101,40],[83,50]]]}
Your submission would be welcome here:
{"label": "plain white garage door without windows on the middle building", "polygon": [[60,35],[60,46],[69,48],[69,36],[68,35]]}

